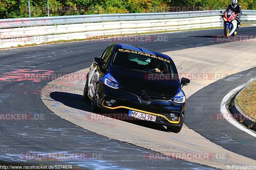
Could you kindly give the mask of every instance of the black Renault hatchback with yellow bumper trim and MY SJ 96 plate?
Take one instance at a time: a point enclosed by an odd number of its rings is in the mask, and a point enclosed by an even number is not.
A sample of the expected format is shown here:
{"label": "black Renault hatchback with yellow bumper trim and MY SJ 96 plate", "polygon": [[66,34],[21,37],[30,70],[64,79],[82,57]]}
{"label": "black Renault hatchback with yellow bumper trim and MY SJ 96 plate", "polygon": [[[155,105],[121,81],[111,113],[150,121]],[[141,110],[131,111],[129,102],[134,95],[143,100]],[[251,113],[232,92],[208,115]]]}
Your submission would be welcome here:
{"label": "black Renault hatchback with yellow bumper trim and MY SJ 96 plate", "polygon": [[162,53],[125,44],[111,44],[94,58],[84,87],[92,110],[127,114],[136,120],[162,124],[180,132],[187,98],[172,59]]}

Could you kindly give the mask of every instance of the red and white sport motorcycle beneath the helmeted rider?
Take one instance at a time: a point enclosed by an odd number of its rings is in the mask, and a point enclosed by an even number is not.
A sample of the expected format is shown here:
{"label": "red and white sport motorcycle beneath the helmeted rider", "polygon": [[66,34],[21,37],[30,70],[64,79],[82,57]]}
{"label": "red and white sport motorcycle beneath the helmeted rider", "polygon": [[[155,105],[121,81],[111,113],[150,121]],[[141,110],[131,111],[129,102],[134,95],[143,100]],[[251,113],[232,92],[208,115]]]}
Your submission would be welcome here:
{"label": "red and white sport motorcycle beneath the helmeted rider", "polygon": [[233,11],[220,11],[223,14],[222,19],[224,20],[224,36],[235,36],[237,33],[237,21],[236,21],[236,13]]}

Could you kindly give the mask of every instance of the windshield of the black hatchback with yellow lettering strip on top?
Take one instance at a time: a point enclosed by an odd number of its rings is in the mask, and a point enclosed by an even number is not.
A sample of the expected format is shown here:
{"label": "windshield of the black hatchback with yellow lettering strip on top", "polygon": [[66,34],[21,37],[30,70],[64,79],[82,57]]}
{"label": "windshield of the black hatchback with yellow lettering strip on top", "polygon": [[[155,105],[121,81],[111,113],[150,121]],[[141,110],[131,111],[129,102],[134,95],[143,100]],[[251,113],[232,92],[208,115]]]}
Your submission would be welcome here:
{"label": "windshield of the black hatchback with yellow lettering strip on top", "polygon": [[172,60],[126,49],[116,50],[112,60],[112,66],[153,74],[160,73],[168,77],[171,75],[172,78],[177,75],[177,70]]}

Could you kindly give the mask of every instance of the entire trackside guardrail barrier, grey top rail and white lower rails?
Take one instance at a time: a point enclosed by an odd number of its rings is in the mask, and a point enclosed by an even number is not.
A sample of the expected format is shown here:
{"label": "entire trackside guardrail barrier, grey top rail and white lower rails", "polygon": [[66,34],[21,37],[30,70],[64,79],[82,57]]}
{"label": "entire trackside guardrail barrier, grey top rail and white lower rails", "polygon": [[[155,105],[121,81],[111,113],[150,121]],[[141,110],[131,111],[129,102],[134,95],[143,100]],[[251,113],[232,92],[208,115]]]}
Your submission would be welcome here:
{"label": "entire trackside guardrail barrier, grey top rail and white lower rails", "polygon": [[[243,10],[241,21],[256,22],[256,11]],[[219,10],[0,19],[0,48],[99,35],[220,26],[223,26],[223,19]]]}

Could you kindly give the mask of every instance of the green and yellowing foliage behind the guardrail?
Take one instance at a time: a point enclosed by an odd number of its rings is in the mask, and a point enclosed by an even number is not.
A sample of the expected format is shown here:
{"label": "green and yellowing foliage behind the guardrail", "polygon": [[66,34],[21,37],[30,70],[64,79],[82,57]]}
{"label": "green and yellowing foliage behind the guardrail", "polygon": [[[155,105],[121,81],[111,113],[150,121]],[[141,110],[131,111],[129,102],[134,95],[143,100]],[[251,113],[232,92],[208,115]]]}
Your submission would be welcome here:
{"label": "green and yellowing foliage behind the guardrail", "polygon": [[[47,0],[30,0],[31,17],[47,16]],[[230,0],[49,0],[50,16],[166,12],[173,6],[225,9]],[[256,10],[255,0],[239,0],[242,9]],[[168,11],[167,11],[168,12]],[[29,17],[28,0],[0,0],[0,18]]]}

